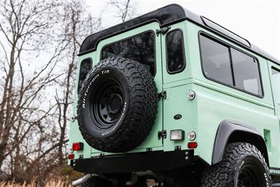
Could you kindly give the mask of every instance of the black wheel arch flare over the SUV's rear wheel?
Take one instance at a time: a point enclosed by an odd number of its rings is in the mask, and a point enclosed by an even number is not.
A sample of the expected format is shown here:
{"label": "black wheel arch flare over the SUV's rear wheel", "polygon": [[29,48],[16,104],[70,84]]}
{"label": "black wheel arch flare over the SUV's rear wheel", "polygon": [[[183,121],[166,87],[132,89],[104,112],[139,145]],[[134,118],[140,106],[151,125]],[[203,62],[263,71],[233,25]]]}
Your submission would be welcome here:
{"label": "black wheel arch flare over the SUV's rear wheel", "polygon": [[[257,130],[253,129],[250,125],[241,123],[236,120],[223,120],[220,123],[218,127],[218,131],[216,133],[216,139],[215,139],[213,153],[212,153],[212,165],[221,162],[221,160],[223,160],[223,154],[228,144],[230,135],[232,134],[232,132],[235,131],[254,134],[258,138],[262,139],[263,144],[265,146],[265,140],[262,138],[262,135]],[[265,157],[267,158],[267,153]],[[269,165],[268,160],[267,160],[267,165]]]}

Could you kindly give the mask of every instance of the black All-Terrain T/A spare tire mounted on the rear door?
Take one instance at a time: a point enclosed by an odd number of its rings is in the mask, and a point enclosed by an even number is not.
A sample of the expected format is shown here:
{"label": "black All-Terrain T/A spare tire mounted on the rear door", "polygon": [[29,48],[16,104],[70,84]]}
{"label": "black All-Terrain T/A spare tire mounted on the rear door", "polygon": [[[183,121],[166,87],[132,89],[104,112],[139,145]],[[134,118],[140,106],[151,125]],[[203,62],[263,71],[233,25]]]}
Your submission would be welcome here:
{"label": "black All-Terrain T/A spare tire mounted on the rear door", "polygon": [[122,57],[102,60],[87,74],[78,97],[78,125],[99,151],[127,152],[151,132],[158,93],[143,64]]}

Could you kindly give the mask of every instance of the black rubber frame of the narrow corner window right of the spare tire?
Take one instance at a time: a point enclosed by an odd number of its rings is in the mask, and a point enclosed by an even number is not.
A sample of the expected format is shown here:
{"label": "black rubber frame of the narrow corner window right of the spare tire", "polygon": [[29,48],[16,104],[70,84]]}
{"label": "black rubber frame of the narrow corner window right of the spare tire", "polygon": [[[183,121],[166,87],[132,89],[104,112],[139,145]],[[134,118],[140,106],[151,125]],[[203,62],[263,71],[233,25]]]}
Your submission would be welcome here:
{"label": "black rubber frame of the narrow corner window right of the spare tire", "polygon": [[[169,71],[169,68],[168,68],[168,55],[167,55],[167,36],[168,34],[172,33],[172,32],[176,32],[176,31],[179,31],[181,32],[181,35],[182,35],[182,50],[183,50],[183,67],[179,70],[176,70],[176,71]],[[185,43],[184,43],[184,36],[183,36],[183,30],[181,28],[176,28],[176,29],[172,29],[171,31],[169,31],[166,36],[165,36],[165,63],[166,63],[166,69],[167,69],[167,73],[168,74],[178,74],[182,71],[184,71],[186,69],[186,53],[185,53]]]}

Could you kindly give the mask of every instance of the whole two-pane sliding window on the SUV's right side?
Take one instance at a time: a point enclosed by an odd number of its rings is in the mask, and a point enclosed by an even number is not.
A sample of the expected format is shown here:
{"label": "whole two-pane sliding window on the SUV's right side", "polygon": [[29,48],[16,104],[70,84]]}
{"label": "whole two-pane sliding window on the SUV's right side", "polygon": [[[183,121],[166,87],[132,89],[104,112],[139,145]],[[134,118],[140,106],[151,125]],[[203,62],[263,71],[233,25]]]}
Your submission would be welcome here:
{"label": "whole two-pane sliding window on the SUV's right side", "polygon": [[262,97],[258,60],[236,48],[200,34],[204,75],[219,83]]}

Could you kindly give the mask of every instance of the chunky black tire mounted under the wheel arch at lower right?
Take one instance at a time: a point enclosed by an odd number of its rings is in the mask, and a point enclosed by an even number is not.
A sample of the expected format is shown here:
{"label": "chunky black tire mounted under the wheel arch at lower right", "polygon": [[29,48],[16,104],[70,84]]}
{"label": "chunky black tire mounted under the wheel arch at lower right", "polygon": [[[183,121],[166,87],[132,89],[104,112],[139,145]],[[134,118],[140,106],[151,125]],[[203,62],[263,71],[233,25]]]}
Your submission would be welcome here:
{"label": "chunky black tire mounted under the wheel arch at lower right", "polygon": [[[248,165],[252,166],[249,167]],[[229,144],[223,155],[223,160],[216,165],[212,165],[204,172],[201,186],[239,187],[242,181],[242,171],[247,167],[247,172],[251,168],[258,175],[254,181],[257,184],[255,183],[253,186],[271,186],[272,180],[265,158],[258,148],[248,143]]]}

